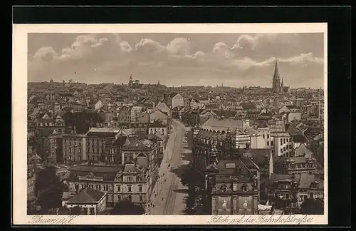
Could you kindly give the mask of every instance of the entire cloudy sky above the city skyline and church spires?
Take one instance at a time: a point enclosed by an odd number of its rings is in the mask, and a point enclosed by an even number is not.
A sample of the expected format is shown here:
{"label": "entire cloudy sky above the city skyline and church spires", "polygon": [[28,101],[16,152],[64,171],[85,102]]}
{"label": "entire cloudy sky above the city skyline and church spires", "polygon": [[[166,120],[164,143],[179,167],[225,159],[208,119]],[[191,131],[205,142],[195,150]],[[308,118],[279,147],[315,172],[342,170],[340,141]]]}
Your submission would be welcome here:
{"label": "entire cloudy sky above the city skyline and church spires", "polygon": [[323,87],[323,34],[28,34],[28,81]]}

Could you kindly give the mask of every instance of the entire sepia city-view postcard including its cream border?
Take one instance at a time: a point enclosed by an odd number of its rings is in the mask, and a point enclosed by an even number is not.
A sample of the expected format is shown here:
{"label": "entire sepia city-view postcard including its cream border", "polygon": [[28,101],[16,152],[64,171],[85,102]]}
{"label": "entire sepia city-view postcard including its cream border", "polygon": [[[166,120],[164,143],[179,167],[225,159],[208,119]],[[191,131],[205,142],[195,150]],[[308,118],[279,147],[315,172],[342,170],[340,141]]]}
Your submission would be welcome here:
{"label": "entire sepia city-view postcard including its cream border", "polygon": [[19,220],[326,224],[326,24],[149,25],[14,27]]}

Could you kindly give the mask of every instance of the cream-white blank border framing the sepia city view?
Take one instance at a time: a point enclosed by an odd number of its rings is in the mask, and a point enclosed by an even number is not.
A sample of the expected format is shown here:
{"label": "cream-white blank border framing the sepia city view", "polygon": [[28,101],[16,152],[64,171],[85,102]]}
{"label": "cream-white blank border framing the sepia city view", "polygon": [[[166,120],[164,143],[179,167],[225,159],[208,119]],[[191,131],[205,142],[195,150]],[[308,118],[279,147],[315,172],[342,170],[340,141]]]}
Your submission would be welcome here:
{"label": "cream-white blank border framing the sepia city view", "polygon": [[[328,224],[328,142],[325,142],[325,214],[221,215],[226,222],[211,222],[214,215],[26,215],[27,46],[28,33],[324,33],[324,121],[328,140],[328,25],[303,24],[14,24],[13,26],[13,143],[12,215],[14,225],[325,225]],[[288,217],[289,216],[289,217]],[[243,217],[241,219],[241,217]],[[278,218],[279,217],[279,218]],[[293,218],[294,217],[294,218]],[[73,219],[72,219],[73,218]],[[268,216],[265,215],[264,219]],[[249,219],[249,220],[248,220]],[[253,220],[251,220],[253,219]],[[289,219],[289,220],[288,220]],[[307,221],[311,219],[311,221]]]}

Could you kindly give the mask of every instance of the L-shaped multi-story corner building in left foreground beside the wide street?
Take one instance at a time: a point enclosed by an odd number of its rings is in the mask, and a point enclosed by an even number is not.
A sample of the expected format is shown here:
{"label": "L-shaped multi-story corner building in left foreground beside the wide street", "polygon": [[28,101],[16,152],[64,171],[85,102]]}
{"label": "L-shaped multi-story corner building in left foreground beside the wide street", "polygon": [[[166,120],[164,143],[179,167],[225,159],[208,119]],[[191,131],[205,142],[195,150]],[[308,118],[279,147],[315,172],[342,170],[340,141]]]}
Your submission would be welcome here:
{"label": "L-shaped multi-story corner building in left foreground beside the wide street", "polygon": [[157,179],[157,146],[131,143],[122,150],[122,165],[77,165],[63,182],[70,190],[92,188],[106,193],[109,206],[120,200],[145,204]]}

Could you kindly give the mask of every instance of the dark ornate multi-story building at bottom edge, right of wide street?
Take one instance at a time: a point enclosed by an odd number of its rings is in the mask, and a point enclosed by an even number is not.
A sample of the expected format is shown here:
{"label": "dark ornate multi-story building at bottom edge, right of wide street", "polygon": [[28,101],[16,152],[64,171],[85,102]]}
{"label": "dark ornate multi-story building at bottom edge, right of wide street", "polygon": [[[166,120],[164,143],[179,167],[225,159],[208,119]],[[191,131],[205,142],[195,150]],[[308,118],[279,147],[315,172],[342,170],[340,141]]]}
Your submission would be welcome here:
{"label": "dark ornate multi-story building at bottom edge, right of wide street", "polygon": [[258,214],[258,166],[251,158],[240,155],[239,150],[216,160],[216,149],[206,168],[207,201],[211,201],[213,215]]}

